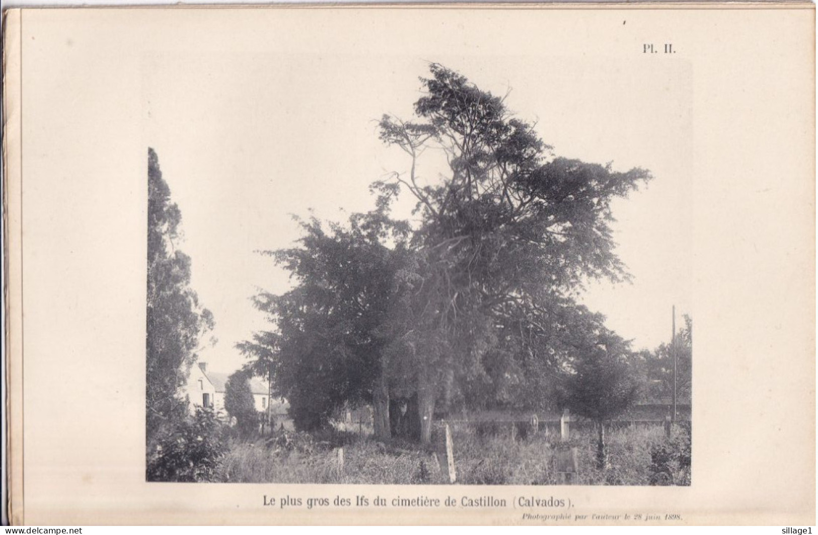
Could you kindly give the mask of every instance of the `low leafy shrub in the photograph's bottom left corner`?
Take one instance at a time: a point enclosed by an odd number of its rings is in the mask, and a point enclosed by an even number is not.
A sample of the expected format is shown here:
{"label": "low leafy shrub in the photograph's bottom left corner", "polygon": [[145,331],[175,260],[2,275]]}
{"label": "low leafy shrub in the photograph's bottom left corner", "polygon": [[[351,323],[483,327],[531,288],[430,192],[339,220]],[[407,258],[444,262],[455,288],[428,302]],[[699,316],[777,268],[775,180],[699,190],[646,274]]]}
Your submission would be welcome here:
{"label": "low leafy shrub in the photograph's bottom left corner", "polygon": [[215,470],[226,448],[212,410],[196,407],[195,416],[178,420],[162,431],[148,452],[148,481],[215,480]]}

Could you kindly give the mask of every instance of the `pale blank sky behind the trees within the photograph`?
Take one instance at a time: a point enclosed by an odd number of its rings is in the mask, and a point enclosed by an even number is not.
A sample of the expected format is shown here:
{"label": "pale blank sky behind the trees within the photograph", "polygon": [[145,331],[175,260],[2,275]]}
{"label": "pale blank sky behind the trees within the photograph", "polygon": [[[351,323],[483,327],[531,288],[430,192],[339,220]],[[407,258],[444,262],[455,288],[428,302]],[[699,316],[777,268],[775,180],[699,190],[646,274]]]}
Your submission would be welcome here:
{"label": "pale blank sky behind the trees within the photograph", "polygon": [[[235,344],[272,328],[250,299],[262,289],[281,293],[290,281],[258,251],[293,244],[293,215],[344,220],[371,209],[371,182],[407,169],[402,152],[378,140],[376,122],[384,113],[411,117],[429,61],[495,94],[510,90],[507,106],[536,121],[556,155],[649,169],[652,182],[613,203],[617,253],[632,282],[589,283],[582,301],[636,349],[670,339],[673,305],[677,326],[691,312],[685,62],[646,69],[605,57],[176,51],[146,58],[142,119],[182,211],[191,285],[216,323],[218,342],[200,362],[233,371],[246,360]],[[430,160],[419,171],[435,180]],[[406,197],[398,214],[411,205]]]}

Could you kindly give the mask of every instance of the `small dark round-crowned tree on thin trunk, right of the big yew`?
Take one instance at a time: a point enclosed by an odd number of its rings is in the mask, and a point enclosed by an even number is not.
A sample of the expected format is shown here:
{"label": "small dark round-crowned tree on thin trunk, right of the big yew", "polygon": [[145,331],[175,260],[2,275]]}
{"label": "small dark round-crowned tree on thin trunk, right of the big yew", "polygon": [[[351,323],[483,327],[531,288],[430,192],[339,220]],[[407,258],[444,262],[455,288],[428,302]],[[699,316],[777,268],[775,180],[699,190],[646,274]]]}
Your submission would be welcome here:
{"label": "small dark round-crowned tree on thin trunk, right of the big yew", "polygon": [[596,459],[607,465],[605,425],[627,411],[639,398],[641,383],[625,340],[604,328],[587,331],[573,350],[564,380],[564,404],[593,420],[597,431]]}

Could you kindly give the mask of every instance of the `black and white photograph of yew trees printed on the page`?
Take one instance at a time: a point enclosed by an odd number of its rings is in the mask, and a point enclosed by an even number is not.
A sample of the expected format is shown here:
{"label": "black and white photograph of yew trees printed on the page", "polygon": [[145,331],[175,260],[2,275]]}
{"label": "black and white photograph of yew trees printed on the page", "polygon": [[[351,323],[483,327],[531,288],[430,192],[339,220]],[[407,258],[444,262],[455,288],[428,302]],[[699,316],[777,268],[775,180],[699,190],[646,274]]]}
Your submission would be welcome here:
{"label": "black and white photograph of yew trees printed on the page", "polygon": [[690,485],[689,65],[554,52],[146,63],[147,481]]}

